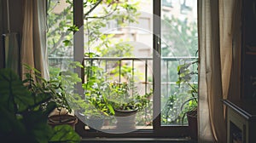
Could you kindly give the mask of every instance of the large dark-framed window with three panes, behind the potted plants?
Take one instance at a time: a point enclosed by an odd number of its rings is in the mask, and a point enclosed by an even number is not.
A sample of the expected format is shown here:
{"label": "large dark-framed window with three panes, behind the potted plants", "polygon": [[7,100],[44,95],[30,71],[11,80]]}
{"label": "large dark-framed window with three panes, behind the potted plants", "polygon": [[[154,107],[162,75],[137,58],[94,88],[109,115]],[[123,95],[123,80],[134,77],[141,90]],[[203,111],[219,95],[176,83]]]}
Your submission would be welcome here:
{"label": "large dark-framed window with three panes, behind the potted plants", "polygon": [[[98,6],[83,0],[68,2],[49,0],[51,68],[67,68],[67,60],[80,61],[90,67],[90,75],[94,73],[97,85],[132,83],[137,89],[129,91],[131,96],[153,92],[148,96],[148,106],[135,116],[135,129],[118,130],[117,117],[108,116],[100,128],[89,120],[85,122],[89,126],[79,123],[79,133],[109,137],[187,135],[187,121],[182,123],[182,106],[183,101],[189,99],[188,87],[177,86],[177,66],[196,60],[196,0],[187,14],[180,13],[182,7],[176,1],[134,0]],[[79,26],[79,31],[74,35],[67,33],[69,24]],[[76,72],[83,83],[92,79],[86,68],[78,68]],[[197,77],[189,82],[196,84]],[[77,87],[84,96],[86,90],[82,85]],[[90,94],[96,92],[90,91]],[[108,97],[110,99],[113,100]]]}

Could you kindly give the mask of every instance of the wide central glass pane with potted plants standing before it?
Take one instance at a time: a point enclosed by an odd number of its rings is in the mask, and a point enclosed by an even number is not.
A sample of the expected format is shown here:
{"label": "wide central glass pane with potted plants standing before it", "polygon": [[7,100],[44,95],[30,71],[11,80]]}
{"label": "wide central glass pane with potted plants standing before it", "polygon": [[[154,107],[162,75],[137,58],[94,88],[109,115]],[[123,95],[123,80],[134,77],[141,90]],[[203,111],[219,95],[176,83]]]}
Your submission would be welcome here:
{"label": "wide central glass pane with potted plants standing before it", "polygon": [[79,112],[86,129],[118,134],[152,129],[153,2],[103,1],[90,12],[95,5],[84,1],[87,106]]}

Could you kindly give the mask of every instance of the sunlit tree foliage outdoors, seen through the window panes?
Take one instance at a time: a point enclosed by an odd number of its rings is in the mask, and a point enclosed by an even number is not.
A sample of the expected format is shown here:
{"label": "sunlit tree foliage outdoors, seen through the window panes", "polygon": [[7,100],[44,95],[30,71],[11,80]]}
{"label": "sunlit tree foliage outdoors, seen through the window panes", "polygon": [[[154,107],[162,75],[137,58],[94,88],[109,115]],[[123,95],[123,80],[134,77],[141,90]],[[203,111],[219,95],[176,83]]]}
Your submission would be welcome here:
{"label": "sunlit tree foliage outdoors, seen through the window panes", "polygon": [[[69,26],[72,26],[72,19],[73,19],[73,12],[72,7],[73,3],[68,1],[70,5],[61,13],[61,14],[55,14],[50,13],[50,10],[55,6],[55,3],[57,1],[49,0],[49,32],[48,37],[50,38],[48,40],[49,45],[49,55],[50,56],[63,56],[63,55],[69,55],[67,53],[73,54],[72,46],[72,32],[67,32],[67,28]],[[131,2],[131,1],[129,1]],[[137,22],[137,16],[139,15],[137,13],[137,3],[129,3],[128,1],[123,0],[88,0],[84,1],[84,29],[85,35],[87,37],[87,43],[84,44],[84,49],[87,49],[88,52],[95,52],[99,56],[113,56],[113,57],[132,57],[131,51],[133,50],[133,47],[129,45],[128,43],[125,43],[125,40],[117,40],[116,35],[110,34],[108,32],[109,30],[112,30],[111,28],[108,28],[108,23],[116,22],[116,26],[114,28],[118,28],[121,26],[125,26],[125,23],[132,23]],[[125,10],[124,13],[119,12]],[[71,12],[70,12],[71,11]],[[188,23],[186,20],[179,20],[175,17],[172,18],[164,18],[166,20],[166,23],[171,24],[171,30],[174,32],[168,32],[163,33],[163,39],[168,39],[168,43],[166,43],[166,46],[164,43],[162,43],[162,56],[173,56],[173,53],[175,53],[174,56],[181,56],[190,53],[194,53],[197,49],[197,37],[196,33],[196,24],[195,23]],[[63,22],[62,22],[63,21]],[[66,25],[65,25],[66,24]],[[58,27],[60,30],[57,28]],[[170,27],[169,27],[170,28]],[[53,32],[55,32],[55,35],[53,35]],[[67,39],[67,42],[65,42]],[[170,42],[170,39],[172,41]],[[64,42],[62,42],[64,40]],[[66,45],[66,46],[63,46]],[[171,47],[168,47],[168,45],[171,45]],[[174,51],[171,51],[171,49],[174,49]],[[187,52],[186,52],[187,51]],[[172,66],[177,66],[177,63],[173,63]],[[122,66],[123,68],[125,66]],[[92,66],[91,69],[96,69],[96,66]],[[113,69],[112,75],[117,76],[118,75],[118,66],[108,66],[108,68]],[[88,67],[89,69],[89,67]],[[176,74],[175,68],[170,68],[168,71],[169,75]],[[98,69],[100,70],[100,69]],[[103,70],[103,69],[101,69]],[[123,69],[122,69],[123,70]],[[129,72],[129,67],[126,68],[127,72],[122,72],[122,76],[125,76],[126,73]],[[86,71],[86,70],[85,70]],[[85,74],[86,75],[86,74]],[[93,79],[93,78],[96,78]],[[101,79],[107,79],[108,77],[105,75],[95,76],[90,78],[88,80],[88,93],[95,92],[95,98],[92,96],[85,96],[90,97],[91,101],[90,103],[94,104],[94,106],[102,106],[106,100],[98,100],[98,99],[104,99],[102,98],[102,95],[100,93],[104,93],[105,89],[101,89],[99,87],[106,87],[108,83],[106,81],[102,81]],[[172,79],[171,79],[172,78]],[[176,77],[170,77],[170,81],[175,81]],[[87,79],[86,79],[87,80]],[[95,81],[94,81],[95,80]],[[163,79],[165,80],[165,79]],[[96,82],[94,84],[93,82]],[[93,83],[93,84],[90,84]],[[100,86],[102,84],[102,86]],[[105,85],[103,85],[105,84]],[[94,86],[95,85],[95,86]],[[177,89],[177,87],[172,87],[172,91],[174,89]],[[164,93],[165,94],[165,93]],[[166,94],[169,94],[167,91]],[[179,95],[182,96],[182,94],[185,93],[174,93],[175,95],[170,96],[170,100],[176,100],[178,102],[182,102],[183,98],[179,98]],[[178,95],[177,95],[178,94]],[[97,97],[98,96],[98,97]],[[105,95],[104,95],[105,96]],[[184,96],[184,95],[183,95]],[[95,100],[96,99],[96,100]],[[89,100],[89,99],[87,99]],[[166,100],[165,100],[166,102]],[[169,104],[170,103],[170,104]],[[109,104],[109,103],[108,103]],[[173,107],[173,103],[168,102],[170,109]],[[105,106],[106,107],[106,106]],[[111,114],[109,112],[109,107],[99,107],[102,111]],[[173,109],[173,108],[172,108]],[[95,109],[94,109],[95,110]],[[93,112],[94,110],[91,110]],[[174,110],[178,112],[178,109]],[[105,114],[105,113],[104,113]]]}

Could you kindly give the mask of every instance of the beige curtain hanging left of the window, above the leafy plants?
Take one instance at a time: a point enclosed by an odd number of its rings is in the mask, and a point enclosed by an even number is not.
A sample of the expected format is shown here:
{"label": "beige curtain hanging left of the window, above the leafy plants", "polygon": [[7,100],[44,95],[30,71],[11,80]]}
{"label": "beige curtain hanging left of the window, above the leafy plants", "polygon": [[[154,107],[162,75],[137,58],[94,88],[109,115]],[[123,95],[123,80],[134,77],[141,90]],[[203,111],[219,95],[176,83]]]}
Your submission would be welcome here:
{"label": "beige curtain hanging left of the window, above the leafy plants", "polygon": [[[49,78],[45,0],[25,0],[20,58],[22,65],[35,67],[42,72],[42,77]],[[22,74],[26,72],[24,66],[21,72]]]}

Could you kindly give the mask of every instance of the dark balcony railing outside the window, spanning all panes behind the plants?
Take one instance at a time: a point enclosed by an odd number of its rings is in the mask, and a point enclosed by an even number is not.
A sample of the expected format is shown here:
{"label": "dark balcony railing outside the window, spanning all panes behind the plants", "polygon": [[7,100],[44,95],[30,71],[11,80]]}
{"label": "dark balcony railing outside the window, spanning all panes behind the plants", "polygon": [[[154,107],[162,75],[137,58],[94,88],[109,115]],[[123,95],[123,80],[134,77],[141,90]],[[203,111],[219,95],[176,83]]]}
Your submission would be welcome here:
{"label": "dark balcony railing outside the window, spanning all panes behind the plants", "polygon": [[[68,61],[72,60],[70,57],[63,58],[49,58],[50,66],[64,67],[67,66]],[[162,57],[161,58],[161,102],[166,102],[169,96],[175,91],[177,75],[177,66],[183,64],[184,61],[197,60],[197,57]],[[108,82],[116,81],[118,83],[127,82],[128,78],[134,81],[139,94],[146,94],[154,88],[154,74],[153,73],[153,58],[131,58],[131,57],[84,57],[82,63],[86,66],[97,66],[102,68],[106,73],[105,80]],[[64,67],[65,68],[65,67]],[[197,68],[197,67],[196,67]],[[84,68],[83,68],[84,70]],[[82,83],[86,82],[85,72],[82,70]],[[127,75],[125,75],[127,74]],[[159,73],[157,73],[159,74]],[[197,77],[193,80],[197,83]],[[132,92],[133,93],[133,92]],[[152,100],[151,100],[152,101]],[[165,105],[165,103],[161,103]],[[164,106],[162,106],[164,108]],[[166,112],[167,114],[168,112]],[[152,115],[153,116],[153,115]],[[145,113],[146,117],[146,113]],[[149,117],[152,119],[152,117]],[[149,119],[150,120],[150,119]],[[166,118],[167,121],[167,118]],[[169,121],[168,121],[169,122]],[[170,122],[172,123],[172,122]],[[168,123],[167,123],[168,124]],[[140,124],[142,125],[142,124]]]}

